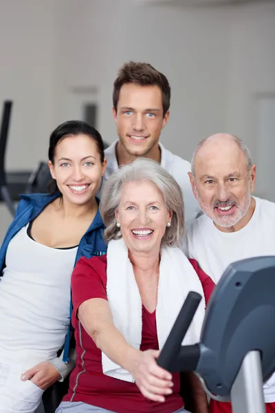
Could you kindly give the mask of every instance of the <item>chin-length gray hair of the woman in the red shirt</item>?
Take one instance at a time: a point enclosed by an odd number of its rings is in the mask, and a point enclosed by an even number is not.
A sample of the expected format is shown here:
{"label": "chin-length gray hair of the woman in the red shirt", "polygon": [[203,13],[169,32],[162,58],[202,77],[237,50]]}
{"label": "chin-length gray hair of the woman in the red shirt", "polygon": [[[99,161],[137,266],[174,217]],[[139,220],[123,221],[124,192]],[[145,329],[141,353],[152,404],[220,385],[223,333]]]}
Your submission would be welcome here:
{"label": "chin-length gray hair of the woman in the red shirt", "polygon": [[173,211],[170,227],[166,228],[162,245],[178,246],[184,235],[184,200],[179,184],[158,162],[146,158],[137,158],[134,162],[123,165],[104,183],[100,200],[100,214],[106,226],[106,242],[119,240],[121,232],[116,225],[115,211],[118,210],[122,186],[126,182],[147,180],[161,191],[167,209]]}

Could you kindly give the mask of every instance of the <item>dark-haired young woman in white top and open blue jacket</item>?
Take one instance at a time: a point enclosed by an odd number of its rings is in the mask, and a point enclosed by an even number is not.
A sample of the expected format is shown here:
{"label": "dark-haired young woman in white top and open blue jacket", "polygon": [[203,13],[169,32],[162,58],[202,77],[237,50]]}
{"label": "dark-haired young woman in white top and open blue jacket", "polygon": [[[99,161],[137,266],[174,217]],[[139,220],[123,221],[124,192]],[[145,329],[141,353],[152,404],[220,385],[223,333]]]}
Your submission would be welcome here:
{"label": "dark-haired young woman in white top and open blue jacket", "polygon": [[33,413],[74,367],[70,279],[80,257],[106,253],[96,198],[105,166],[98,131],[63,123],[50,136],[53,192],[19,202],[0,249],[0,413]]}

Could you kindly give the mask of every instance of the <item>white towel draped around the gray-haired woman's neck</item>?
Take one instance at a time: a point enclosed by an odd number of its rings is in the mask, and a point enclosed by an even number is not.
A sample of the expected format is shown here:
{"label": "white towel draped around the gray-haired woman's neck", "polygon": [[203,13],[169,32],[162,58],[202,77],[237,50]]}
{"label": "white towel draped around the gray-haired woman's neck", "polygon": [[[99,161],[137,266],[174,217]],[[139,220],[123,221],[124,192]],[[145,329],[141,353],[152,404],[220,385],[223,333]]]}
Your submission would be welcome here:
{"label": "white towel draped around the gray-haired woman's neck", "polygon": [[[159,264],[159,286],[157,292],[157,339],[162,349],[166,338],[189,293],[195,291],[203,299],[188,328],[184,344],[199,341],[205,314],[205,299],[199,277],[188,258],[179,248],[163,247]],[[128,248],[123,239],[109,242],[107,251],[107,298],[115,327],[126,341],[140,349],[142,341],[142,300],[135,282],[133,266]],[[104,374],[116,379],[133,382],[131,374],[118,366],[102,352]]]}

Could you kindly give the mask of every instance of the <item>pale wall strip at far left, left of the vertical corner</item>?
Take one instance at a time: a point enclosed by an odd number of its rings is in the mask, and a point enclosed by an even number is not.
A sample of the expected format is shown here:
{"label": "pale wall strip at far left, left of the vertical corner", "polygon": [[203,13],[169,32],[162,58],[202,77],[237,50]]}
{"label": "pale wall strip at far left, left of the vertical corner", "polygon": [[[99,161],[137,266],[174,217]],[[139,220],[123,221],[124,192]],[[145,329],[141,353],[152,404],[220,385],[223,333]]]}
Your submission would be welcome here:
{"label": "pale wall strip at far left, left of the vertical corner", "polygon": [[[52,5],[52,0],[0,0],[0,108],[3,100],[14,101],[9,170],[33,169],[47,158],[54,100]],[[1,203],[0,240],[10,220]]]}

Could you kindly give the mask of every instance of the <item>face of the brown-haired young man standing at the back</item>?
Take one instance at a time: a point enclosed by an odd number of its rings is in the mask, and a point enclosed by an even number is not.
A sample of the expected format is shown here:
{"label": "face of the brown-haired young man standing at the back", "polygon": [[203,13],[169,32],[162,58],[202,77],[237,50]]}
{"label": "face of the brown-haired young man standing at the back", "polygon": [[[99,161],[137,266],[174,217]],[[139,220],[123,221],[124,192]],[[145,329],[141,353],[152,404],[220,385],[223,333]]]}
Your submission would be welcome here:
{"label": "face of the brown-haired young man standing at the back", "polygon": [[169,112],[163,116],[162,91],[158,86],[126,83],[120,89],[116,113],[113,108],[118,137],[131,156],[150,156],[168,117]]}

